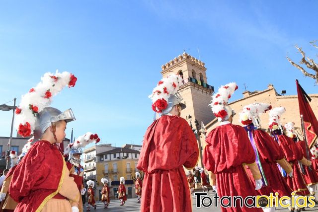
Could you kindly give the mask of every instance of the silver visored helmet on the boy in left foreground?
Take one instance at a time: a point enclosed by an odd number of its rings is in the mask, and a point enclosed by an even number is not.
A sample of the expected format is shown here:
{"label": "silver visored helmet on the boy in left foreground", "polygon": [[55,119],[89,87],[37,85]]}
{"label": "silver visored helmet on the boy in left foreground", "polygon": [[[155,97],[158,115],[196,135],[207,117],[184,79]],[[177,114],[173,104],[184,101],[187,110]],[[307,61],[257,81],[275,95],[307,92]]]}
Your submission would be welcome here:
{"label": "silver visored helmet on the boy in left foreground", "polygon": [[48,129],[50,126],[54,125],[56,122],[61,120],[65,120],[66,122],[71,122],[75,120],[75,116],[71,108],[63,113],[62,111],[53,107],[43,108],[43,110],[36,116],[33,131],[33,142],[41,139],[46,129]]}

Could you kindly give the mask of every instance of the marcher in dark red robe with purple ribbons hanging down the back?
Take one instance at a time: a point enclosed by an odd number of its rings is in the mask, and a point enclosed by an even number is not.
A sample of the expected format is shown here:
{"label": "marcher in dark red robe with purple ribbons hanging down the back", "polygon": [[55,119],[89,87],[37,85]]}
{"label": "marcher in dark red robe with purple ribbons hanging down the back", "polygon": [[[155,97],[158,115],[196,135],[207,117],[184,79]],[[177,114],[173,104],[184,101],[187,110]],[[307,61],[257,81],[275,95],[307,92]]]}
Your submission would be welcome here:
{"label": "marcher in dark red robe with purple ribbons hanging down the back", "polygon": [[[239,121],[244,125],[250,143],[253,146],[256,164],[260,170],[263,186],[257,190],[257,195],[270,196],[270,193],[278,193],[278,197],[291,197],[293,192],[286,183],[286,180],[281,174],[281,171],[293,176],[291,165],[286,161],[284,152],[279,144],[273,140],[270,135],[261,129],[259,114],[270,110],[272,106],[265,103],[253,103],[243,107],[239,114]],[[280,169],[276,165],[280,165]],[[249,169],[247,169],[249,171]],[[249,172],[250,178],[252,174]],[[290,204],[290,201],[285,201],[285,204]],[[274,205],[275,206],[275,205]],[[290,207],[289,210],[292,210]],[[275,207],[263,208],[264,212],[274,212]]]}

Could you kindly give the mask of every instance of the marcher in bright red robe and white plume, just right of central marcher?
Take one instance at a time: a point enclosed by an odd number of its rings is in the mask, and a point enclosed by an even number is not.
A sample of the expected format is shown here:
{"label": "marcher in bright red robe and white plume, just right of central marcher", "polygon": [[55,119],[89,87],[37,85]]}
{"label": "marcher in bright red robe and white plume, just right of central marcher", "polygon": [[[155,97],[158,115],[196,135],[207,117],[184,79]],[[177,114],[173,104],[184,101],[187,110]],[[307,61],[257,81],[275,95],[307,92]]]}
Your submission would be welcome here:
{"label": "marcher in bright red robe and white plume, just right of central marcher", "polygon": [[[212,179],[212,185],[217,187],[220,198],[240,196],[244,200],[247,196],[256,196],[255,190],[262,187],[262,178],[246,131],[243,127],[232,124],[235,112],[228,105],[228,101],[237,89],[237,84],[231,82],[221,86],[213,96],[210,105],[220,124],[206,139],[203,164],[207,170],[215,174],[216,182]],[[247,165],[252,172],[255,187],[246,174],[244,165]],[[237,204],[240,204],[239,202]],[[228,203],[224,201],[224,204]],[[232,204],[231,207],[222,207],[221,210],[222,212],[262,212],[260,208],[249,208],[244,204],[242,208],[234,207]]]}

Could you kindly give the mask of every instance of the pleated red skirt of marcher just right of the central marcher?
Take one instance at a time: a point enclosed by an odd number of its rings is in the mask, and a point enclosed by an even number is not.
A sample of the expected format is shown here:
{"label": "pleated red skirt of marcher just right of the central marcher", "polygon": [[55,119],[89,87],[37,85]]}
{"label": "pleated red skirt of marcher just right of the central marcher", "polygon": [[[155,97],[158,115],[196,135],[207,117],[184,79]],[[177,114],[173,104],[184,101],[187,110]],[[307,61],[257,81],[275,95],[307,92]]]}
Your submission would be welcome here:
{"label": "pleated red skirt of marcher just right of the central marcher", "polygon": [[[235,168],[230,168],[224,170],[221,173],[216,173],[218,195],[219,197],[224,196],[241,196],[243,199],[247,196],[256,196],[255,187],[252,185],[249,177],[247,176],[243,165],[237,166]],[[227,204],[226,201],[223,201]],[[233,203],[233,199],[232,199]],[[248,203],[251,204],[251,203]],[[237,201],[237,206],[239,206],[239,201]],[[261,208],[243,208],[232,207],[232,208],[222,208],[222,212],[263,212]]]}

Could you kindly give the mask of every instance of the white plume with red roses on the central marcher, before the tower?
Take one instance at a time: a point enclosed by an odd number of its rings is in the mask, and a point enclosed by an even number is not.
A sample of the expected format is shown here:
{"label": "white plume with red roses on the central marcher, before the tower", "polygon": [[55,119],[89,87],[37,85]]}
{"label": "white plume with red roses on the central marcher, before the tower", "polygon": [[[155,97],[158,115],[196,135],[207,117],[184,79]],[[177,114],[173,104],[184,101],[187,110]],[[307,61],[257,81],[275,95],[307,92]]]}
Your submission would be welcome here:
{"label": "white plume with red roses on the central marcher, before the tower", "polygon": [[171,94],[175,94],[179,87],[183,84],[183,79],[180,75],[170,74],[162,78],[153,93],[149,96],[153,104],[152,108],[155,112],[161,113],[167,107],[167,101]]}

